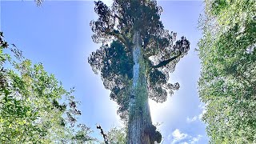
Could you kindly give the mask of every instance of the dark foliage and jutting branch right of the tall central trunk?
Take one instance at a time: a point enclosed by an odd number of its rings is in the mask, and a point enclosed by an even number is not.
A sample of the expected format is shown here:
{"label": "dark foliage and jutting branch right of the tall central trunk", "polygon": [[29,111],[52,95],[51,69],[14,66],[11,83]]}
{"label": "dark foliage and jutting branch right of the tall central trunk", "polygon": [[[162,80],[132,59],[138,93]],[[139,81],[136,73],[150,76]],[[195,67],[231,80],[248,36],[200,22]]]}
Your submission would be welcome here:
{"label": "dark foliage and jutting branch right of the tall central trunk", "polygon": [[180,58],[187,54],[190,49],[190,42],[182,37],[174,46],[158,52],[148,60],[149,76],[148,88],[149,97],[156,102],[165,102],[167,91],[174,94],[173,90],[179,89],[178,83],[168,83],[169,73],[173,72]]}

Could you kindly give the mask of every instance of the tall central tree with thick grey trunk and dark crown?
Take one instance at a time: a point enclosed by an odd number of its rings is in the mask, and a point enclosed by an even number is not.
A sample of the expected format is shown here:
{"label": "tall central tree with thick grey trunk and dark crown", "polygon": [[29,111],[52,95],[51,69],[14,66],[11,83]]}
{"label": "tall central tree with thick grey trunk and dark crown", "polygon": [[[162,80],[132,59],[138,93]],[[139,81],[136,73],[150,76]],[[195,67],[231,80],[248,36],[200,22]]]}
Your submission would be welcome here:
{"label": "tall central tree with thick grey trunk and dark crown", "polygon": [[[190,42],[164,29],[162,7],[156,1],[114,0],[111,7],[94,2],[98,20],[91,21],[92,38],[102,46],[88,62],[110,98],[118,103],[118,114],[128,121],[128,143],[161,142],[150,117],[148,98],[165,102],[178,83],[168,83],[169,73],[187,54]],[[158,135],[158,138],[155,136]]]}

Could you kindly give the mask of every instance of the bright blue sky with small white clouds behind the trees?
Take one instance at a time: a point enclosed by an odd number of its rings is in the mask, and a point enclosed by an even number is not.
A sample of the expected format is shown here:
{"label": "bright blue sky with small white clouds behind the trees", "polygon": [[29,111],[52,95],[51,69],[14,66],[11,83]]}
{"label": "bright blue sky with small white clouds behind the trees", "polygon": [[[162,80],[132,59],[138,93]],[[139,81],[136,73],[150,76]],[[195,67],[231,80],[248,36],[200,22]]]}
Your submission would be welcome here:
{"label": "bright blue sky with small white clouds behind the trees", "polygon": [[[111,1],[108,0],[107,3]],[[159,1],[162,22],[166,29],[190,40],[190,52],[178,63],[170,82],[179,82],[180,90],[162,104],[150,101],[154,124],[169,143],[207,143],[206,125],[201,122],[203,104],[199,101],[197,81],[200,61],[194,49],[201,37],[198,17],[203,12],[202,1]],[[96,19],[92,1],[45,1],[41,7],[34,2],[1,1],[1,30],[7,42],[15,43],[26,58],[42,62],[68,90],[75,86],[74,96],[81,102],[80,122],[94,130],[95,124],[104,130],[122,126],[116,114],[117,105],[110,100],[100,75],[94,74],[87,62],[99,45],[92,42],[90,20]]]}

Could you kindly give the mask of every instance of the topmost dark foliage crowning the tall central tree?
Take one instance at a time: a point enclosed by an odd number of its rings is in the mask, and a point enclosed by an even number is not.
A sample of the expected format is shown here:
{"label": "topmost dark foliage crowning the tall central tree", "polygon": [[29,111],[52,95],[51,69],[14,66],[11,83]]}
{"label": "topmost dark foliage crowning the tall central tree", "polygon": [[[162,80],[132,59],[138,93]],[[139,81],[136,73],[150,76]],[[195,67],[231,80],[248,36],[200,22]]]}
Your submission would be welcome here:
{"label": "topmost dark foliage crowning the tall central tree", "polygon": [[162,31],[162,8],[155,1],[115,0],[111,8],[101,1],[94,3],[98,14],[98,20],[90,22],[94,42],[106,43],[115,38],[131,47],[132,35],[137,30],[146,46],[150,38]]}

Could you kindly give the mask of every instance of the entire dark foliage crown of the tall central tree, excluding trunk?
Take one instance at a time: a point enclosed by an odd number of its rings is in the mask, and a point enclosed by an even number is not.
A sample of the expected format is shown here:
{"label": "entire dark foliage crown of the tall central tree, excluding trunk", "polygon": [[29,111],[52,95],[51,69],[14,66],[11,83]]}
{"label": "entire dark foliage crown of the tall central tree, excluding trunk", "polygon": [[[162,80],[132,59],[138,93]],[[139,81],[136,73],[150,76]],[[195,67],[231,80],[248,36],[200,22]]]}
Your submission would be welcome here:
{"label": "entire dark foliage crown of the tall central tree, excluding trunk", "polygon": [[176,33],[164,29],[162,7],[154,0],[114,0],[111,7],[98,1],[94,11],[98,20],[90,22],[92,38],[102,46],[88,62],[96,74],[100,72],[106,89],[111,90],[110,98],[118,102],[121,117],[127,115],[130,103],[134,31],[139,32],[142,42],[149,98],[165,102],[168,91],[173,94],[179,88],[178,83],[168,83],[169,73],[187,54],[190,42],[184,37],[175,42]]}

